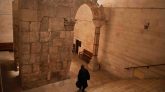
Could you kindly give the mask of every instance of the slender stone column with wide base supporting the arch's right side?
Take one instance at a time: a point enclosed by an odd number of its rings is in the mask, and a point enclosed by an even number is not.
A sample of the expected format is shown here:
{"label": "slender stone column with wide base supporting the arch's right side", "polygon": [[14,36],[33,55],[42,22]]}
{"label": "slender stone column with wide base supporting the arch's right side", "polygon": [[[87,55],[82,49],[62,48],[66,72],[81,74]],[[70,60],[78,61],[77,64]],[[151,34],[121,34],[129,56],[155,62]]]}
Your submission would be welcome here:
{"label": "slender stone column with wide base supporting the arch's right side", "polygon": [[99,48],[99,39],[100,39],[100,28],[102,24],[102,20],[100,19],[93,19],[93,23],[95,25],[95,37],[94,37],[94,44],[93,44],[93,57],[88,65],[89,69],[92,71],[97,71],[100,68],[98,63],[98,48]]}

